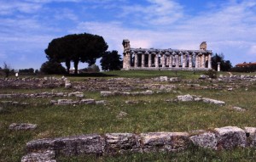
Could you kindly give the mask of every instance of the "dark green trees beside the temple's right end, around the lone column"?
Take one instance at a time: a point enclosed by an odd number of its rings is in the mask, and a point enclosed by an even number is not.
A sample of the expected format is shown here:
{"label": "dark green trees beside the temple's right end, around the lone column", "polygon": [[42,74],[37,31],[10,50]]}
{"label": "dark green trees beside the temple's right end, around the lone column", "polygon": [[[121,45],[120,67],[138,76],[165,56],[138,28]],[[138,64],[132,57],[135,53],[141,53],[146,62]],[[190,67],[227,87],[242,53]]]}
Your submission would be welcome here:
{"label": "dark green trees beside the temple's right end, around the lone column", "polygon": [[228,71],[232,68],[230,60],[224,60],[224,54],[217,54],[212,57],[212,69],[218,70],[218,63],[220,63],[220,69],[223,71]]}

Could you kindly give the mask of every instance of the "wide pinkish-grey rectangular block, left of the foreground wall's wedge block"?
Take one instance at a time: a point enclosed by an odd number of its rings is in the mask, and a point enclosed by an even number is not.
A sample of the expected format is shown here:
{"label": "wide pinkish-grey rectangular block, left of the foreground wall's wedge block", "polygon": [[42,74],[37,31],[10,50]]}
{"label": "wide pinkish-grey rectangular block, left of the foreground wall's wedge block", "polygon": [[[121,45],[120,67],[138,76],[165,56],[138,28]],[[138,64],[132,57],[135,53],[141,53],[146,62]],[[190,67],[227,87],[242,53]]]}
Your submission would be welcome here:
{"label": "wide pinkish-grey rectangular block, left of the foreground wall's wedge block", "polygon": [[144,152],[179,151],[187,148],[189,143],[187,132],[151,132],[140,136]]}

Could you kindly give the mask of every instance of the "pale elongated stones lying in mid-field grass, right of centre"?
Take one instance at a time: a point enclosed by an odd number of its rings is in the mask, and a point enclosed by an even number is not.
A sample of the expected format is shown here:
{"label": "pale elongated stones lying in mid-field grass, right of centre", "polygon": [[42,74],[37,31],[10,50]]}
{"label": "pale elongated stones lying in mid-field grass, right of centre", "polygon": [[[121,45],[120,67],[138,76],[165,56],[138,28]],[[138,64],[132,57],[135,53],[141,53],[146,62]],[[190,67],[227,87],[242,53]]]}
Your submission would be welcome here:
{"label": "pale elongated stones lying in mid-field grass, right of centre", "polygon": [[211,98],[202,98],[201,96],[195,96],[190,94],[177,96],[177,101],[182,101],[182,102],[202,101],[204,103],[218,104],[219,106],[223,106],[225,104],[224,101],[218,101],[216,99],[211,99]]}

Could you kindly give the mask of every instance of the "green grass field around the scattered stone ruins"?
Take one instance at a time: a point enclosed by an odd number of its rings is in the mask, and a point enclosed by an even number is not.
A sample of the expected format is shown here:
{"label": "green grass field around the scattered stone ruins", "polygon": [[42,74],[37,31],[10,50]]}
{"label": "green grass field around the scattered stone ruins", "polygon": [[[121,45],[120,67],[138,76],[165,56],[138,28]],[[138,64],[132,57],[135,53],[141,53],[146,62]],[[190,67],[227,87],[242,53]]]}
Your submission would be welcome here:
{"label": "green grass field around the scattered stone ruins", "polygon": [[[104,73],[109,77],[154,78],[160,75],[179,77],[191,83],[198,81],[203,72],[192,71],[113,71]],[[227,75],[223,73],[224,75]],[[246,74],[247,75],[247,74]],[[251,74],[255,75],[255,74]],[[57,76],[61,77],[61,76]],[[70,81],[84,81],[86,76],[68,76]],[[90,75],[87,77],[96,77]],[[26,154],[26,142],[45,137],[64,137],[87,133],[108,132],[150,132],[150,131],[193,131],[213,129],[222,126],[256,126],[256,82],[238,87],[233,91],[198,89],[184,87],[186,83],[172,83],[175,92],[159,92],[150,96],[115,96],[103,98],[100,92],[86,92],[85,98],[107,100],[107,105],[51,105],[51,99],[58,98],[8,98],[0,99],[30,103],[29,106],[0,104],[0,161],[20,161]],[[211,81],[201,81],[201,85],[211,86]],[[228,83],[220,82],[225,85]],[[230,84],[230,83],[229,83]],[[9,92],[51,92],[52,89],[20,90],[1,89]],[[55,92],[68,92],[58,88]],[[166,100],[177,95],[191,94],[224,101],[224,106],[208,103],[168,103]],[[76,99],[76,98],[73,98]],[[139,101],[127,104],[125,101]],[[232,110],[233,106],[246,109],[245,112]],[[118,118],[119,112],[127,115]],[[11,123],[38,124],[34,131],[9,131]],[[256,150],[244,148],[232,151],[214,152],[201,148],[190,148],[183,153],[125,154],[106,157],[60,157],[59,161],[255,161]]]}

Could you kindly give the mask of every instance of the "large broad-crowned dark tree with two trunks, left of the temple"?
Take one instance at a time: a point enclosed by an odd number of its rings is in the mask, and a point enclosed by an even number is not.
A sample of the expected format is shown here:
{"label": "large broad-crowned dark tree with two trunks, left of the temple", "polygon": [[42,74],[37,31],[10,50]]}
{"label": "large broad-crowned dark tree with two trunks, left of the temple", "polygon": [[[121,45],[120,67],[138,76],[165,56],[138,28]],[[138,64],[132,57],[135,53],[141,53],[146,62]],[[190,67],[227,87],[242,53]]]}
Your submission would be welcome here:
{"label": "large broad-crowned dark tree with two trunks, left of the temple", "polygon": [[75,74],[78,74],[79,62],[95,64],[96,59],[101,58],[107,49],[108,44],[102,36],[83,33],[55,38],[44,52],[49,60],[65,62],[67,73],[73,61]]}

